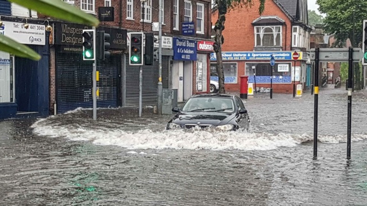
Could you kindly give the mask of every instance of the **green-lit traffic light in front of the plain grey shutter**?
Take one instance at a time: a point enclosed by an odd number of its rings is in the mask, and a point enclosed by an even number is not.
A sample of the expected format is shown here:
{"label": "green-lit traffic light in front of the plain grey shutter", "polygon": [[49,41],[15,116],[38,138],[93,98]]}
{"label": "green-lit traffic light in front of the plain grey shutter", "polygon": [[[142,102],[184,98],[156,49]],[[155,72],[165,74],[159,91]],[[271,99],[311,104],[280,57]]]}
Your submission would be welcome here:
{"label": "green-lit traffic light in front of the plain grey shutter", "polygon": [[143,65],[143,33],[130,33],[129,65]]}

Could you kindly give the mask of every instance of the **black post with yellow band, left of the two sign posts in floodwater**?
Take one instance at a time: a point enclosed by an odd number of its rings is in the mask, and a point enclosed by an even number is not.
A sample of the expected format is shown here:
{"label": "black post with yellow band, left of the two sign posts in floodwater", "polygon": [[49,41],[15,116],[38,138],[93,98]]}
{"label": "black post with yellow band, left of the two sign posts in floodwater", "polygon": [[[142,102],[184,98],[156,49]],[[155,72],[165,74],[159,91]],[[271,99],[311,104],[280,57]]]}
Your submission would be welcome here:
{"label": "black post with yellow band, left of the two sign posts in floodwater", "polygon": [[313,158],[317,158],[317,116],[318,116],[318,110],[319,110],[319,66],[320,66],[320,48],[315,48],[315,91],[314,91],[314,97],[315,97],[315,103],[314,103],[314,113],[313,113]]}

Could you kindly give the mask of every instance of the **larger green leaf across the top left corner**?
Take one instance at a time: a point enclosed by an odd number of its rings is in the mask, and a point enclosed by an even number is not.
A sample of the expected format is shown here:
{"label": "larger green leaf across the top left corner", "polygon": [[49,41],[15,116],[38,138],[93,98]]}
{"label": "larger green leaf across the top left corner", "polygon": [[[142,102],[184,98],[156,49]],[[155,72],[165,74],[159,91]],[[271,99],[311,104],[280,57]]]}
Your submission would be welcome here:
{"label": "larger green leaf across the top left corner", "polygon": [[8,0],[23,7],[72,23],[98,26],[99,20],[62,0]]}

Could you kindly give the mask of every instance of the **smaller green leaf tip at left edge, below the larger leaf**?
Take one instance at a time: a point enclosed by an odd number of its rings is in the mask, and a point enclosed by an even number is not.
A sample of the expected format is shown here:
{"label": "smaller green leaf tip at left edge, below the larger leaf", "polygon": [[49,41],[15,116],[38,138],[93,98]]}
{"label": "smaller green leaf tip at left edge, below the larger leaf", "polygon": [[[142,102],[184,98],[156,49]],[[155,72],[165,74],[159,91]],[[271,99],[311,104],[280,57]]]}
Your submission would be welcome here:
{"label": "smaller green leaf tip at left edge, below the larger leaf", "polygon": [[35,61],[41,59],[41,56],[28,46],[20,44],[4,35],[0,35],[0,50],[8,52],[10,54],[14,54],[19,57],[32,59]]}

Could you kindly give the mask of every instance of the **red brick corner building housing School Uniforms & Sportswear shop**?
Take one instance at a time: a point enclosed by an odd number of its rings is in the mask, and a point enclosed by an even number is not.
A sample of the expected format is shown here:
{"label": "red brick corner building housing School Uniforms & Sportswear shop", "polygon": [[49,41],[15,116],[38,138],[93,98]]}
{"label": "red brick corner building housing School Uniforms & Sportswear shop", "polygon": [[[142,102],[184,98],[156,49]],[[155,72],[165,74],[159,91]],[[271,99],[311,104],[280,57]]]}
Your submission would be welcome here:
{"label": "red brick corner building housing School Uniforms & Sportswear shop", "polygon": [[[222,57],[226,91],[239,91],[240,76],[248,82],[273,91],[292,93],[292,83],[310,85],[309,38],[306,0],[265,1],[264,13],[258,14],[259,2],[251,9],[236,8],[226,15]],[[218,14],[212,14],[215,22]],[[294,51],[299,54],[293,60]],[[270,56],[275,56],[273,77]],[[216,56],[211,56],[211,71],[216,71]],[[295,73],[295,76],[294,76]],[[211,77],[215,79],[216,77]],[[294,81],[295,80],[295,81]]]}

